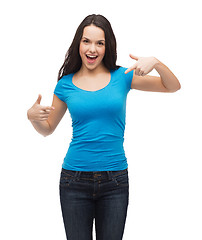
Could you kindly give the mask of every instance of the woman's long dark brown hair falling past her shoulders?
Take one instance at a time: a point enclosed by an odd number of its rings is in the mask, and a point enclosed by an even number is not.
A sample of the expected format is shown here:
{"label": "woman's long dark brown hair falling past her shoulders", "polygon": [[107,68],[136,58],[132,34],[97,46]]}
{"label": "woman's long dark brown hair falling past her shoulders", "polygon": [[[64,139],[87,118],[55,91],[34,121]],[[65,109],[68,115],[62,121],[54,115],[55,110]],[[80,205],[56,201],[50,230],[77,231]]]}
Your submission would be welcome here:
{"label": "woman's long dark brown hair falling past her shoulders", "polygon": [[82,65],[82,60],[79,54],[79,45],[83,36],[83,29],[89,25],[100,27],[105,33],[105,56],[103,63],[108,70],[119,68],[116,65],[116,38],[114,36],[110,22],[102,15],[92,14],[87,16],[77,28],[76,34],[70,48],[65,55],[65,61],[58,73],[58,81],[67,74],[79,71]]}

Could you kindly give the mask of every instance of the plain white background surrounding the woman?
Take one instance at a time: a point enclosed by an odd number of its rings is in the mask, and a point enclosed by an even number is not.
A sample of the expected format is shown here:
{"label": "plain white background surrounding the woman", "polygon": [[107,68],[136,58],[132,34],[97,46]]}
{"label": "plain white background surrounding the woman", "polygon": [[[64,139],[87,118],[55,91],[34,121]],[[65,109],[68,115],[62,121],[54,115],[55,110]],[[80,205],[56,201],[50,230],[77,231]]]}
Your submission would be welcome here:
{"label": "plain white background surrounding the woman", "polygon": [[44,138],[26,113],[39,93],[42,105],[51,105],[65,53],[92,13],[111,22],[117,64],[134,64],[129,53],[155,56],[182,86],[176,93],[128,94],[124,239],[202,239],[200,8],[196,0],[1,3],[1,239],[65,239],[58,184],[72,135],[70,114]]}

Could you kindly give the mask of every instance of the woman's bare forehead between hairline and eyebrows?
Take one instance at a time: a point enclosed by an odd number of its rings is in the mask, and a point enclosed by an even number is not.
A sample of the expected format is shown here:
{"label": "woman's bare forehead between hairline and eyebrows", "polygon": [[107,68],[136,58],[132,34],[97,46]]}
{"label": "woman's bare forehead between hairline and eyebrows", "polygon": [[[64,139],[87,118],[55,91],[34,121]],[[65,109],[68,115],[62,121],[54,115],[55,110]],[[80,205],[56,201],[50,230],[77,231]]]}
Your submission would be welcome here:
{"label": "woman's bare forehead between hairline and eyebrows", "polygon": [[86,37],[91,40],[105,40],[105,33],[102,28],[90,25],[84,28],[82,37]]}

